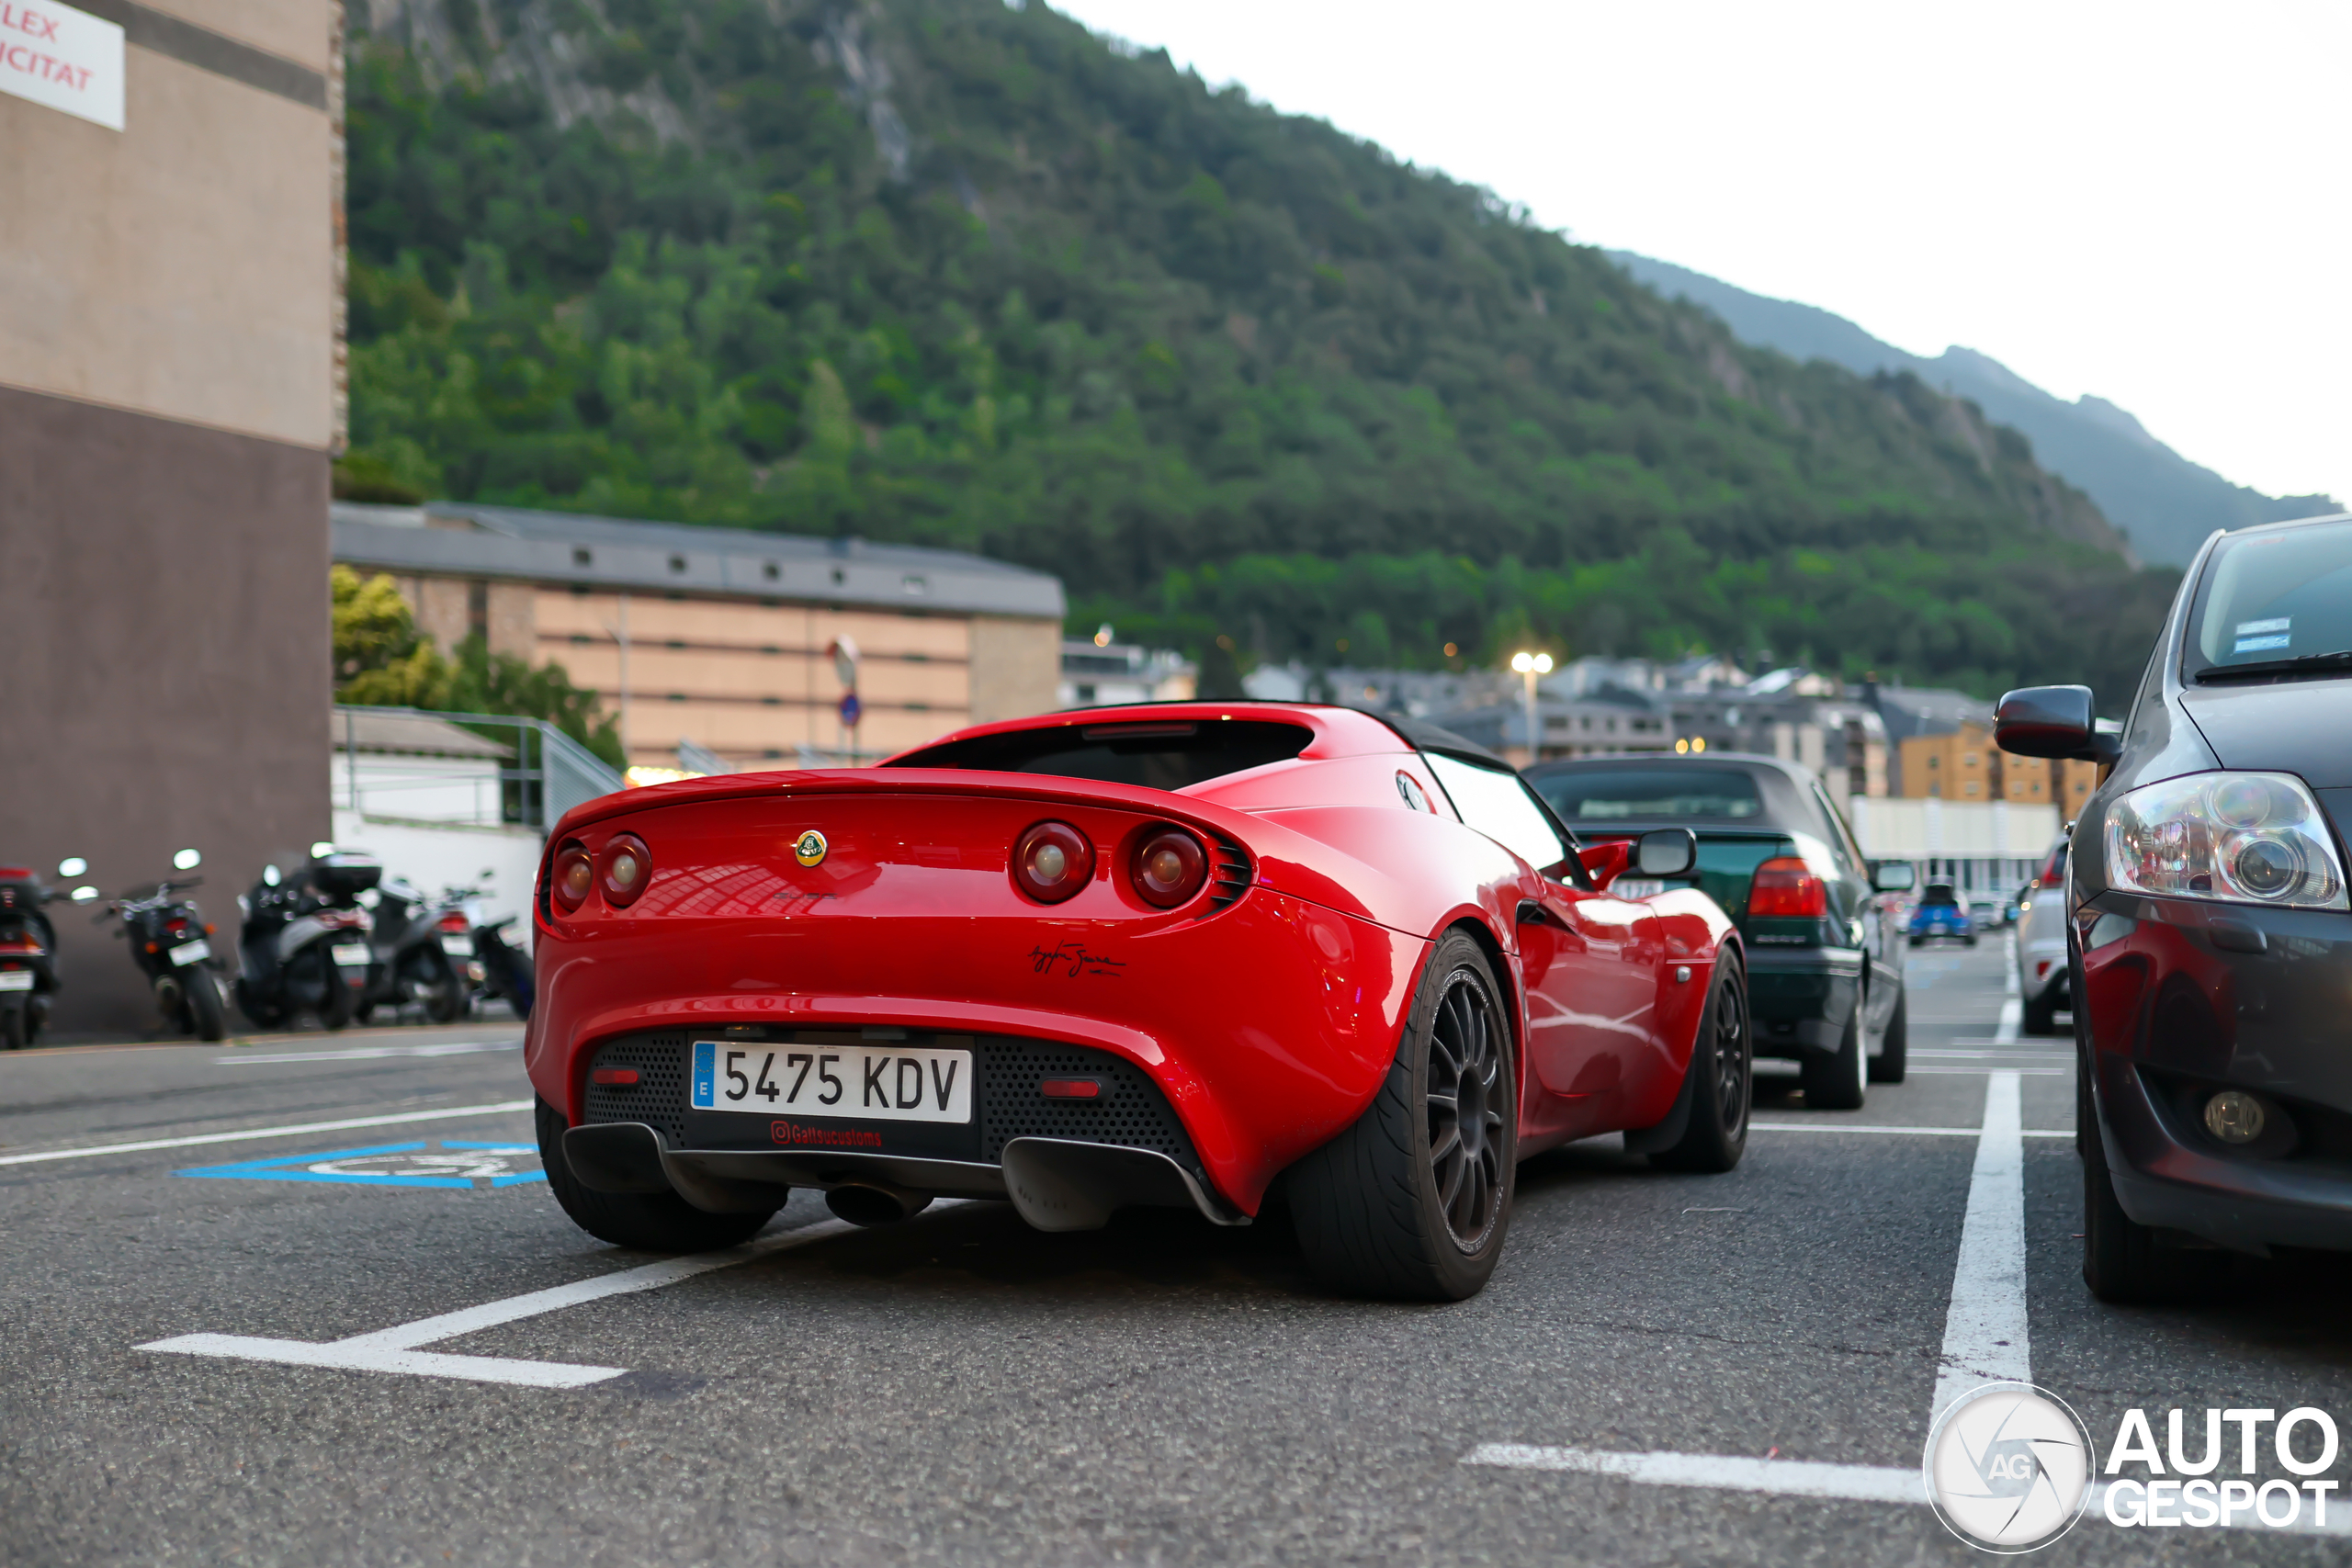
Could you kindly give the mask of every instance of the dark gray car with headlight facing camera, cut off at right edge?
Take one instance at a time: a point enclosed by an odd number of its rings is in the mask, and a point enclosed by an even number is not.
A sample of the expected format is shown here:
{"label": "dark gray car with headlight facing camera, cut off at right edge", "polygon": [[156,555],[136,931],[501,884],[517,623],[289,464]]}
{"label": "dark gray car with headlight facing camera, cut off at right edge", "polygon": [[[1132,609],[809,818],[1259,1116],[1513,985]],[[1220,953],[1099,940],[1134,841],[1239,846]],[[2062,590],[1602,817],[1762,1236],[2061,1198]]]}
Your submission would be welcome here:
{"label": "dark gray car with headlight facing camera, cut off at right edge", "polygon": [[2117,733],[2086,686],[1994,733],[2107,766],[2065,865],[2091,1291],[2352,1251],[2352,517],[2211,536]]}

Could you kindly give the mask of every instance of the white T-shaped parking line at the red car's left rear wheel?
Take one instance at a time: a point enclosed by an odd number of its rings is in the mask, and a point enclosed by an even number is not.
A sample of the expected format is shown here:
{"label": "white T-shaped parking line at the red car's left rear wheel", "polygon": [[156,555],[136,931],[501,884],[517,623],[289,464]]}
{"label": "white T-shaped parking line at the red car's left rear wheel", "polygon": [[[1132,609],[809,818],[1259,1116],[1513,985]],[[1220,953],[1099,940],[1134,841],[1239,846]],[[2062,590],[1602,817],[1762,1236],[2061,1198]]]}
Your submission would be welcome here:
{"label": "white T-shaped parking line at the red car's left rear wheel", "polygon": [[480,1333],[482,1328],[496,1328],[499,1324],[513,1324],[543,1312],[562,1312],[564,1307],[604,1300],[607,1295],[659,1291],[661,1286],[675,1286],[680,1279],[694,1279],[696,1274],[708,1274],[710,1269],[731,1269],[739,1262],[807,1246],[809,1241],[823,1241],[826,1237],[837,1237],[844,1229],[854,1227],[847,1220],[818,1220],[816,1225],[788,1229],[781,1237],[746,1241],[743,1246],[731,1246],[722,1253],[668,1258],[663,1262],[649,1262],[642,1269],[621,1269],[616,1274],[581,1279],[569,1286],[532,1291],[529,1295],[508,1295],[506,1300],[482,1302],[480,1307],[466,1307],[463,1312],[442,1312],[440,1316],[416,1319],[414,1324],[395,1324],[374,1333],[355,1333],[346,1340],[327,1340],[325,1345],[315,1340],[256,1340],[238,1333],[183,1333],[172,1340],[139,1345],[139,1349],[176,1356],[275,1361],[282,1366],[332,1366],[346,1373],[402,1373],[409,1378],[461,1378],[466,1382],[510,1382],[534,1389],[576,1389],[590,1382],[604,1382],[607,1378],[619,1378],[628,1368],[576,1366],[569,1361],[513,1361],[508,1356],[449,1356],[419,1352],[416,1347],[433,1345],[435,1340],[454,1340],[463,1333]]}

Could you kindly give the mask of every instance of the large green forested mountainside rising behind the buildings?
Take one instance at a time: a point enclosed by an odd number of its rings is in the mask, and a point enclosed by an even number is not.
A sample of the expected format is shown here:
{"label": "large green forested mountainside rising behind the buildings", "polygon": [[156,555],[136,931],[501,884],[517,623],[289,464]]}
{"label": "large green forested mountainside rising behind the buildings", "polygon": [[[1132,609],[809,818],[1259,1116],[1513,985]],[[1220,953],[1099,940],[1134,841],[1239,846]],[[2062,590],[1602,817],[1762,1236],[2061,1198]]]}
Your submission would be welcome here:
{"label": "large green forested mountainside rising behind the buildings", "polygon": [[2114,689],[2169,595],[1971,404],[1037,2],[365,12],[346,494],[988,550],[1221,679],[1536,635]]}

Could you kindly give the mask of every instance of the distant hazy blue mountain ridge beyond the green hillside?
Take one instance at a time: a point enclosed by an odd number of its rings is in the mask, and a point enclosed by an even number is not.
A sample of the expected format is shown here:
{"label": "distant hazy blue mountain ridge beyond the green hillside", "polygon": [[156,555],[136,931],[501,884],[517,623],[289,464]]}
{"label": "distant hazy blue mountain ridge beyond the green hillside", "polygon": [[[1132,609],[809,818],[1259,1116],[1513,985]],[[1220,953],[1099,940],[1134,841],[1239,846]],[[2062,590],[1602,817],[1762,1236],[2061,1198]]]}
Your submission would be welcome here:
{"label": "distant hazy blue mountain ridge beyond the green hillside", "polygon": [[1933,388],[1971,400],[1990,418],[2020,430],[2034,444],[2034,458],[2084,489],[2145,559],[2178,567],[2213,529],[2343,510],[2333,496],[2265,496],[2232,484],[2159,442],[2105,397],[2086,393],[2065,402],[1973,348],[1945,348],[1929,360],[1882,343],[1818,306],[1750,294],[1653,256],[1609,252],[1609,259],[1658,294],[1689,299],[1724,317],[1743,343],[1778,348],[1792,360],[1828,360],[1863,376],[1912,371]]}

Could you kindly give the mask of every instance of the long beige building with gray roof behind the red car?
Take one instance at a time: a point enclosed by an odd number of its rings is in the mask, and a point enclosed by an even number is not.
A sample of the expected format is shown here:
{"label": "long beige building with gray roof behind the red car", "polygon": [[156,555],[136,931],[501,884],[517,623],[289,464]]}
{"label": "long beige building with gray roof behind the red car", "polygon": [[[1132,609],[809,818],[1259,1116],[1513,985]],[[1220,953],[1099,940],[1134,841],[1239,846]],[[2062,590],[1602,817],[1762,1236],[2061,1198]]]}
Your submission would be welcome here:
{"label": "long beige building with gray roof behind the red car", "polygon": [[[334,559],[388,574],[442,649],[560,663],[630,764],[870,762],[1056,708],[1061,581],[957,550],[463,503],[334,508]],[[856,651],[856,724],[837,651]]]}

